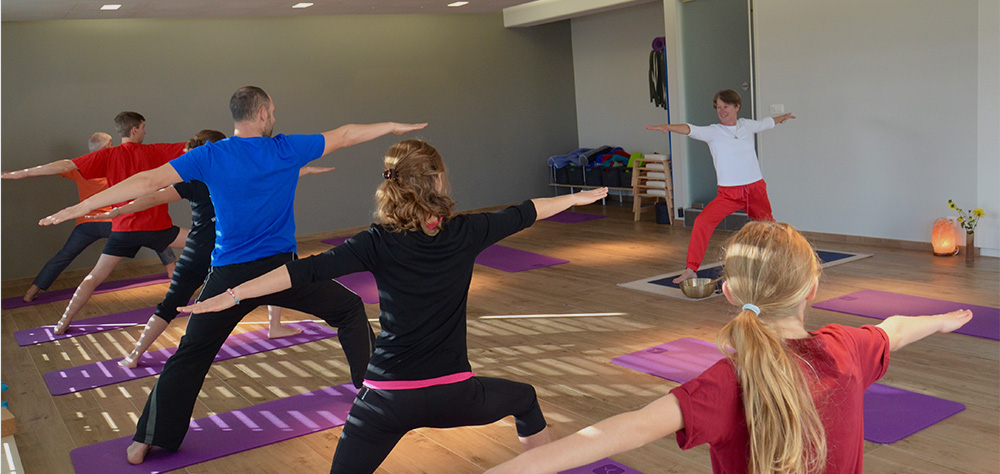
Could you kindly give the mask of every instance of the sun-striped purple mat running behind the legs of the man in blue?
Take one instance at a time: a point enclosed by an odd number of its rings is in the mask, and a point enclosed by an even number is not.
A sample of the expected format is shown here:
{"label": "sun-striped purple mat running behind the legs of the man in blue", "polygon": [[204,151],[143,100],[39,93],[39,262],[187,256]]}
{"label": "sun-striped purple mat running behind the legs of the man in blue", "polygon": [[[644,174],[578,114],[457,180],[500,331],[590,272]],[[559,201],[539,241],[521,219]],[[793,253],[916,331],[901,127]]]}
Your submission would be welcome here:
{"label": "sun-striped purple mat running behind the legs of the man in blue", "polygon": [[[337,331],[326,325],[317,324],[312,321],[292,323],[288,326],[302,329],[302,332],[294,336],[277,339],[268,339],[267,329],[230,335],[226,339],[225,344],[222,345],[222,349],[216,354],[215,362],[319,341],[337,335]],[[49,392],[53,395],[64,395],[89,390],[126,380],[157,375],[163,371],[163,364],[176,351],[176,347],[171,347],[147,352],[142,355],[139,367],[134,369],[119,367],[119,359],[113,359],[64,370],[55,370],[46,373],[43,378],[45,378],[45,383],[49,385]]]}

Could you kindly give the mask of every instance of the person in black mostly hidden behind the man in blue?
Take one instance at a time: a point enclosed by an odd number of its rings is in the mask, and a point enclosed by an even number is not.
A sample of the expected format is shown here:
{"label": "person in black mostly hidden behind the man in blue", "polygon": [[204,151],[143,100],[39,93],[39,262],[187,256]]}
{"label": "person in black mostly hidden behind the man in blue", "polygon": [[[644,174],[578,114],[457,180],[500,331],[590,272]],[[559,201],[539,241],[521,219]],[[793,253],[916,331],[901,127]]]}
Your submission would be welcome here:
{"label": "person in black mostly hidden behind the man in blue", "polygon": [[[184,151],[225,138],[226,135],[217,130],[202,130],[188,140]],[[324,173],[331,170],[333,168],[306,166],[302,168],[300,175]],[[205,281],[205,277],[208,276],[212,249],[215,247],[215,207],[212,205],[208,186],[201,181],[192,180],[167,186],[106,213],[107,217],[117,217],[181,199],[187,199],[191,203],[191,230],[184,243],[184,251],[174,269],[166,296],[156,306],[156,311],[146,322],[146,327],[139,336],[139,340],[135,342],[135,348],[128,356],[118,362],[118,365],[122,367],[131,369],[138,367],[140,358],[149,349],[149,346],[156,338],[160,337],[160,334],[163,334],[170,321],[177,317],[177,307],[187,304],[198,287]],[[102,217],[104,214],[94,216],[94,218]],[[269,320],[267,336],[269,338],[293,336],[302,332],[299,329],[281,325],[281,308],[268,306],[267,311]]]}

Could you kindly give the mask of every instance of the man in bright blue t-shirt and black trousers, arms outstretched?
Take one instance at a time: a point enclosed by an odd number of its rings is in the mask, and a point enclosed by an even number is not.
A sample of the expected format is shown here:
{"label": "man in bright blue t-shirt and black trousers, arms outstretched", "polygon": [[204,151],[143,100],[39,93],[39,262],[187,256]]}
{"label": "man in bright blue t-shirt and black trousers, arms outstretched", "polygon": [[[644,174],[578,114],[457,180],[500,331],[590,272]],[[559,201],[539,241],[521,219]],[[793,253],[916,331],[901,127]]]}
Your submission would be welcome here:
{"label": "man in bright blue t-shirt and black trousers, arms outstretched", "polygon": [[[272,137],[274,102],[259,87],[236,91],[229,108],[235,122],[232,137],[195,148],[39,223],[57,224],[90,209],[144,196],[174,183],[202,181],[208,185],[216,213],[212,269],[199,295],[199,300],[210,298],[295,259],[293,204],[299,168],[304,164],[338,148],[427,126],[351,124],[316,135]],[[134,442],[127,451],[130,463],[141,463],[154,445],[169,450],[180,447],[215,355],[243,316],[260,305],[313,314],[336,327],[351,380],[361,387],[375,335],[361,299],[333,280],[237,301],[236,306],[218,313],[192,315],[177,352],[167,360],[146,400]]]}

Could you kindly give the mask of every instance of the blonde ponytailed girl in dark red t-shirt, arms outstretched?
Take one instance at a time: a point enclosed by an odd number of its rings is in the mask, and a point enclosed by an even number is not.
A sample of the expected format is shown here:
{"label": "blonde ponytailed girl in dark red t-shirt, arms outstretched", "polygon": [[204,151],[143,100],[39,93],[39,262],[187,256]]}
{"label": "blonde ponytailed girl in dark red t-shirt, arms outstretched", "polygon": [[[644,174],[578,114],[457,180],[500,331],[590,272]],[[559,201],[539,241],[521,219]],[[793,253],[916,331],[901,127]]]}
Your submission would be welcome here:
{"label": "blonde ponytailed girl in dark red t-shirt, arms outstretched", "polygon": [[889,352],[972,318],[961,310],[808,332],[820,262],[782,223],[747,224],[729,243],[725,269],[723,293],[741,308],[717,339],[727,358],[644,408],[488,474],[555,473],[675,432],[682,449],[708,443],[716,473],[860,473],[864,391],[885,374]]}

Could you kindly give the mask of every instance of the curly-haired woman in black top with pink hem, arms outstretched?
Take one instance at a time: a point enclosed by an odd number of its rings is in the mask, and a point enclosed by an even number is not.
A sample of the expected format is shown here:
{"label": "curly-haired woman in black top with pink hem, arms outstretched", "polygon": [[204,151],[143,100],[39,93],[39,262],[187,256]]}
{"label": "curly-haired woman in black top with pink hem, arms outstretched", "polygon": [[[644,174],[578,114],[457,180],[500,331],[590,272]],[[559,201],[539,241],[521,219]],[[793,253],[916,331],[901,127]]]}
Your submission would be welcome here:
{"label": "curly-haired woman in black top with pink hem, arms outstretched", "polygon": [[534,387],[472,373],[466,303],[476,256],[504,237],[607,188],[525,201],[502,211],[454,213],[441,155],[420,140],[393,145],[375,193],[375,220],[319,255],[289,262],[182,311],[221,311],[254,298],[370,271],[382,330],[333,456],[331,473],[370,473],[406,432],[492,423],[513,415],[526,449],[549,441]]}

